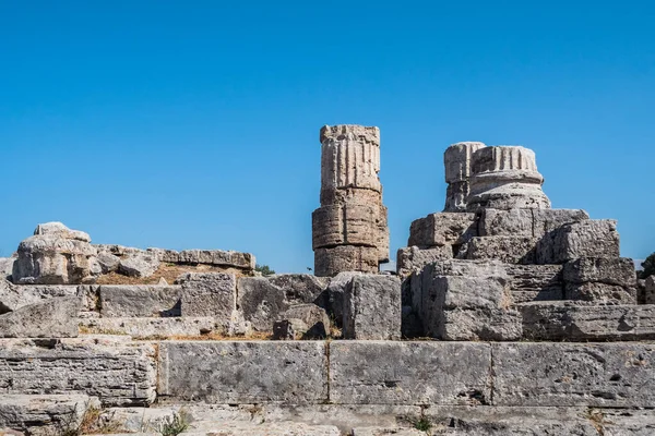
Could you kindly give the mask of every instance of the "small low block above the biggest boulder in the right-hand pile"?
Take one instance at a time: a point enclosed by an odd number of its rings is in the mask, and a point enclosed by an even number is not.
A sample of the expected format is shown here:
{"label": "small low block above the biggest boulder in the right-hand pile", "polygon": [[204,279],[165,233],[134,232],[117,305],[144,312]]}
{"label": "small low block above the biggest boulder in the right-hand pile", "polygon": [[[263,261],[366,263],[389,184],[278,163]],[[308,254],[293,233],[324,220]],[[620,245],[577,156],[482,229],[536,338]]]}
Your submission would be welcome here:
{"label": "small low block above the biggest boulder in the right-hand pile", "polygon": [[505,264],[534,264],[538,240],[532,237],[473,238],[462,247],[458,258],[500,261]]}

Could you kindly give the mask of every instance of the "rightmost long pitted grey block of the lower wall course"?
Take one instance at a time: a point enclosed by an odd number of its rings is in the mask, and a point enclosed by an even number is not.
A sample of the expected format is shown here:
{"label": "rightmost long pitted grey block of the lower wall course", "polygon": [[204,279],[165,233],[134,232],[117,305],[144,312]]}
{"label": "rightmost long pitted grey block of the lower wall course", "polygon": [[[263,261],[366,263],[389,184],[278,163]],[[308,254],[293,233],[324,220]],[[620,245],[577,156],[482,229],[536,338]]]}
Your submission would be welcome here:
{"label": "rightmost long pitted grey block of the lower wall course", "polygon": [[492,343],[493,404],[651,407],[651,343]]}

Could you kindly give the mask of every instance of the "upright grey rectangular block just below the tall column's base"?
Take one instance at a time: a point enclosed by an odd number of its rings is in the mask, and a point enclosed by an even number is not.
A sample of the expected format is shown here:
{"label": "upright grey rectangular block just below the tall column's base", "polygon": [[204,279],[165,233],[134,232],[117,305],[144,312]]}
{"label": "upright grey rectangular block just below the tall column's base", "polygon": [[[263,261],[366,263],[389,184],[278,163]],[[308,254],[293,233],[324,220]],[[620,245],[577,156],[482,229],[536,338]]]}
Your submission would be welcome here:
{"label": "upright grey rectangular block just below the tall column's base", "polygon": [[346,339],[400,339],[401,280],[392,276],[356,276],[344,294]]}

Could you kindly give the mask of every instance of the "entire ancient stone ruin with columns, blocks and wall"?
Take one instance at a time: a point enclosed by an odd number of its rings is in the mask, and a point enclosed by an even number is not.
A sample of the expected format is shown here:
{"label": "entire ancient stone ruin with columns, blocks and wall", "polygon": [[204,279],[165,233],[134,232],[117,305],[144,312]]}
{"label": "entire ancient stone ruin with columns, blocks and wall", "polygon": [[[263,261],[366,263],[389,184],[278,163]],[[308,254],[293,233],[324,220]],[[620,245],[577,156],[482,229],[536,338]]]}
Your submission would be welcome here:
{"label": "entire ancient stone ruin with columns, blocks and wall", "polygon": [[377,128],[321,131],[314,275],[39,225],[0,259],[0,434],[652,435],[655,277],[535,154],[445,150],[389,257]]}

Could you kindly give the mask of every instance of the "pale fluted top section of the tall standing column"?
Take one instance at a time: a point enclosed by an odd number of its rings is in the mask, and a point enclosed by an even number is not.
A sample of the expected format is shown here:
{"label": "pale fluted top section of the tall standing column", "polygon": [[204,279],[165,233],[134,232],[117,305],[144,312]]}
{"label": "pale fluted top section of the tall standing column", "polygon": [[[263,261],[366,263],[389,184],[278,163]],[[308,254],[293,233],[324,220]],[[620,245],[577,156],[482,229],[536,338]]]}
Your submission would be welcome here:
{"label": "pale fluted top section of the tall standing column", "polygon": [[360,187],[381,192],[378,128],[325,125],[321,144],[321,190]]}

